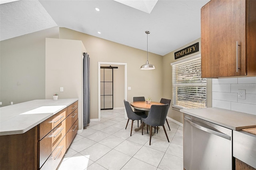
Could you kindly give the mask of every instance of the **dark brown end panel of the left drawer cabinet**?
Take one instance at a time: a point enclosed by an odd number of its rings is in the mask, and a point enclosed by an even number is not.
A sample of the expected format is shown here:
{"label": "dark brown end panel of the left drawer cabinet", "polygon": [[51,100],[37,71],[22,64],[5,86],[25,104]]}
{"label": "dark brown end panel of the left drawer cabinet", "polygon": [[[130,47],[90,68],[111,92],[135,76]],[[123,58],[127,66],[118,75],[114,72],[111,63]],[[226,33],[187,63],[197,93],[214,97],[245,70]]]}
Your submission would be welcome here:
{"label": "dark brown end panel of the left drawer cabinet", "polygon": [[37,126],[23,134],[0,136],[0,170],[37,169]]}

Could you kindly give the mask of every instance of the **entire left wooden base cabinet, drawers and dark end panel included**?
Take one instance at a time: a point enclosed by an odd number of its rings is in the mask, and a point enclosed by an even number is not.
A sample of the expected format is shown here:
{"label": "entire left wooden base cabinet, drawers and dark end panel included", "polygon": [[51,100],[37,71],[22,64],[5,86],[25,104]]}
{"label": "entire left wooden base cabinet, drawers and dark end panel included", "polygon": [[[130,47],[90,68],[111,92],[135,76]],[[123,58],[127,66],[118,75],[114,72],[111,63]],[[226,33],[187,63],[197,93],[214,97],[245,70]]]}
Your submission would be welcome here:
{"label": "entire left wooden base cabinet, drawers and dark end panel included", "polygon": [[54,170],[78,131],[78,101],[23,134],[0,136],[1,170]]}

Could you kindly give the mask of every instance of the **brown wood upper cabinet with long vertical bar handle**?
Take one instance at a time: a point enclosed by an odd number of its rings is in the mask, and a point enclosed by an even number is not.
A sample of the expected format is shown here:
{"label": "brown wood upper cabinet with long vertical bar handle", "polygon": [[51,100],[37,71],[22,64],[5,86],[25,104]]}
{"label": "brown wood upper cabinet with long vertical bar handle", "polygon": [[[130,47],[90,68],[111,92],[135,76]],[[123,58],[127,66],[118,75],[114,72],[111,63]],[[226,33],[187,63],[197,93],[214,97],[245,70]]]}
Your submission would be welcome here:
{"label": "brown wood upper cabinet with long vertical bar handle", "polygon": [[202,78],[256,76],[255,9],[256,0],[211,0],[201,8]]}

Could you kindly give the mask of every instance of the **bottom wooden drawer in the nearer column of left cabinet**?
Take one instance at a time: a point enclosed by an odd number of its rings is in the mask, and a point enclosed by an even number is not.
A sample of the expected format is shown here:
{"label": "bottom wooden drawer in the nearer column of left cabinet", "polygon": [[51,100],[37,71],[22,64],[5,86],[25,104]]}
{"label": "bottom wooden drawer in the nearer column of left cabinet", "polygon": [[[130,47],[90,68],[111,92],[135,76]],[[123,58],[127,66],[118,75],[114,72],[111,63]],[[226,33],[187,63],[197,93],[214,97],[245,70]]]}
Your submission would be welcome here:
{"label": "bottom wooden drawer in the nearer column of left cabinet", "polygon": [[53,150],[52,154],[50,154],[49,158],[46,160],[44,165],[40,168],[40,170],[54,170],[60,164],[62,157],[66,152],[66,140],[63,138],[61,142],[57,145],[57,147]]}

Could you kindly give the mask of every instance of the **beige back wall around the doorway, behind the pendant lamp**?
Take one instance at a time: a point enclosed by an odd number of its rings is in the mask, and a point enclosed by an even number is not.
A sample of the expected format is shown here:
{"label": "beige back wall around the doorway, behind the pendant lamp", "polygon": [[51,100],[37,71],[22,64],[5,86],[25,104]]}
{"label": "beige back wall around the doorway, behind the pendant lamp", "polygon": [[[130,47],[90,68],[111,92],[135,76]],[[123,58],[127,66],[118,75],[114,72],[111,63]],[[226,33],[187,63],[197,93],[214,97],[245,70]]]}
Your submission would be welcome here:
{"label": "beige back wall around the doorway, behind the pendant lamp", "polygon": [[[98,119],[98,62],[127,63],[128,101],[134,96],[150,96],[153,101],[162,97],[162,56],[148,53],[148,61],[154,70],[140,70],[146,63],[146,51],[111,42],[67,28],[60,28],[60,38],[81,40],[90,55],[90,118]],[[146,45],[146,40],[145,40]],[[124,99],[119,99],[123,101]]]}

